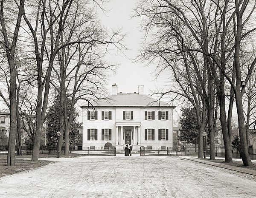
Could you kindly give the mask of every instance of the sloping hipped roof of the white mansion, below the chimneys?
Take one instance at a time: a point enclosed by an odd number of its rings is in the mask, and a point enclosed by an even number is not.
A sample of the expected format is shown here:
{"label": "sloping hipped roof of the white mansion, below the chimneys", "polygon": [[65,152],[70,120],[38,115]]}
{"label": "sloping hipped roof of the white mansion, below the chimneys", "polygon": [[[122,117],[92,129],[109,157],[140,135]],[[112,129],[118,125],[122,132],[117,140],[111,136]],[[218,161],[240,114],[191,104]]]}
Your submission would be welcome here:
{"label": "sloping hipped roof of the white mansion, below the chimneys", "polygon": [[[99,99],[93,102],[94,107],[175,107],[166,102],[138,93],[118,93],[107,99]],[[81,105],[88,107],[88,105]]]}

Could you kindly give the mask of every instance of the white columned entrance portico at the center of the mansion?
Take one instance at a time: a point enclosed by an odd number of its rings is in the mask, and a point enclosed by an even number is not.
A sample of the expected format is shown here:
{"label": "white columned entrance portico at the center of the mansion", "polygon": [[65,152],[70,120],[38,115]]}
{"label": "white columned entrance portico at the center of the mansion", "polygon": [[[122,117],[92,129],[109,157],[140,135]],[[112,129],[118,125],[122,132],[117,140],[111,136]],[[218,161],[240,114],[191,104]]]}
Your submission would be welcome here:
{"label": "white columned entrance portico at the center of the mansion", "polygon": [[116,122],[116,150],[123,150],[128,142],[133,145],[134,150],[140,147],[140,122]]}

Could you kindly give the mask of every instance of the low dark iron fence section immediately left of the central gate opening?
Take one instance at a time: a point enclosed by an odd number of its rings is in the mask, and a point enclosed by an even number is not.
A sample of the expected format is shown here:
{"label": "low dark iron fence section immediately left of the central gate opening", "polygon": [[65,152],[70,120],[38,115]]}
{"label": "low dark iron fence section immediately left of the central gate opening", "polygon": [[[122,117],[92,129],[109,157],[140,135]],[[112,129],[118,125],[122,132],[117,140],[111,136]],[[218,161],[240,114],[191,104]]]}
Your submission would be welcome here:
{"label": "low dark iron fence section immediately left of the central gate opening", "polygon": [[[87,155],[116,156],[116,147],[83,147]],[[86,153],[85,153],[86,154]]]}

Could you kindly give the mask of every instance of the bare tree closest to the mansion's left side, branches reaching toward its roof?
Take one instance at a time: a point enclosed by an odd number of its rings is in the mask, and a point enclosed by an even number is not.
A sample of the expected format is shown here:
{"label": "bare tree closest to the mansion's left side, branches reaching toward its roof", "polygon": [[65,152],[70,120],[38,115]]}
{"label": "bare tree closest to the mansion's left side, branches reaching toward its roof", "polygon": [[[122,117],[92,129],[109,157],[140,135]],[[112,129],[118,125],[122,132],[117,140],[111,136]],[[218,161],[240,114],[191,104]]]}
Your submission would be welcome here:
{"label": "bare tree closest to the mansion's left side, branches reaching toward its roof", "polygon": [[[58,65],[54,68],[58,84],[52,85],[60,94],[60,132],[58,150],[61,150],[65,132],[65,154],[69,152],[69,130],[75,104],[79,100],[98,100],[105,96],[106,71],[115,65],[108,65],[103,57],[110,45],[122,48],[123,36],[119,31],[108,35],[99,25],[92,8],[77,3],[70,9],[68,25],[61,34],[61,50],[58,52]],[[67,111],[66,98],[71,98]]]}

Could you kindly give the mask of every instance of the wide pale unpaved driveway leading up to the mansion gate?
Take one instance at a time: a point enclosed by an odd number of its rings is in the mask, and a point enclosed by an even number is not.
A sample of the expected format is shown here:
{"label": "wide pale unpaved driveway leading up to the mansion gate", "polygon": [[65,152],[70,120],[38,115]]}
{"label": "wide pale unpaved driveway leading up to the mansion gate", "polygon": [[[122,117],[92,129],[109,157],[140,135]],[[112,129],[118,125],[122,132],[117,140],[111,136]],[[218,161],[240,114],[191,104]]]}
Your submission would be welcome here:
{"label": "wide pale unpaved driveway leading up to the mansion gate", "polygon": [[176,157],[84,156],[0,178],[0,197],[255,197],[256,177]]}

